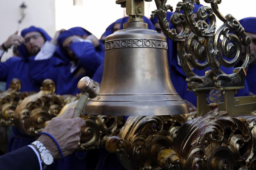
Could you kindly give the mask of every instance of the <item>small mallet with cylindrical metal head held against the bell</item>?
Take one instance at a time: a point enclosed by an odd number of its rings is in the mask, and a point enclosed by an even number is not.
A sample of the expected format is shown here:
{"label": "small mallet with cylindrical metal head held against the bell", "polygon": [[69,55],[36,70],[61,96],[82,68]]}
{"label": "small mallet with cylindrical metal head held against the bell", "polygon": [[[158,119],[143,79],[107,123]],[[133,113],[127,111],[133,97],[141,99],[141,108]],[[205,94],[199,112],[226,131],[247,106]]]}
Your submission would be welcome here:
{"label": "small mallet with cylindrical metal head held against the bell", "polygon": [[84,110],[84,106],[88,98],[94,98],[98,96],[100,87],[89,77],[83,77],[79,80],[77,88],[82,92],[76,106],[74,117],[80,117]]}

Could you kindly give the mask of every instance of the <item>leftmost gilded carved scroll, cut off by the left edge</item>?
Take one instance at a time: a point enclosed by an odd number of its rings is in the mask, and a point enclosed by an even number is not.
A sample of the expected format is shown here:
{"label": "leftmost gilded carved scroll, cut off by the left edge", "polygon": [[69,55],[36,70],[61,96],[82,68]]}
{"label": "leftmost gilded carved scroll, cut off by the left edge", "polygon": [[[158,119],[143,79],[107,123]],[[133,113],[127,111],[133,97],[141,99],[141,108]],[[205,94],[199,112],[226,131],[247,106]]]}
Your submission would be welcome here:
{"label": "leftmost gilded carved scroll, cut off by the left edge", "polygon": [[14,78],[9,88],[0,94],[0,125],[14,125],[14,111],[21,100],[29,95],[28,92],[19,92],[21,82]]}

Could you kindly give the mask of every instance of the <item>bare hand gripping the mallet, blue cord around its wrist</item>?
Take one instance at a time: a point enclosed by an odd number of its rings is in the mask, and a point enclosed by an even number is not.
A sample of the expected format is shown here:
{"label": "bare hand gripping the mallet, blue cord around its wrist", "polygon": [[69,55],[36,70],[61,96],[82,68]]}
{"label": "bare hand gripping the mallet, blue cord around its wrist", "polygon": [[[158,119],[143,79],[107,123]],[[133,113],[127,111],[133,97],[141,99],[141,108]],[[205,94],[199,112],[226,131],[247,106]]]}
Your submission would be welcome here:
{"label": "bare hand gripping the mallet, blue cord around its wrist", "polygon": [[[51,134],[57,140],[63,156],[71,154],[78,147],[78,142],[82,135],[82,127],[85,126],[85,121],[82,118],[76,117],[72,119],[73,115],[74,108],[69,108],[65,114],[53,118],[43,129],[43,132]],[[37,141],[44,144],[54,159],[61,158],[56,144],[50,137],[41,135]]]}

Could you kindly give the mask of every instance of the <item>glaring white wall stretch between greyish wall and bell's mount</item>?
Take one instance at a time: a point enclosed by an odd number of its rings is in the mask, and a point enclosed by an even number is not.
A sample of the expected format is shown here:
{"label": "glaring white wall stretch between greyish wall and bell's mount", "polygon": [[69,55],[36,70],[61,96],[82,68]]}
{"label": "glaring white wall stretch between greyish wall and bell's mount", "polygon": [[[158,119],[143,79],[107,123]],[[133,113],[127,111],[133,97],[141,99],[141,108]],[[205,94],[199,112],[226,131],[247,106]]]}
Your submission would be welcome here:
{"label": "glaring white wall stretch between greyish wall and bell's mount", "polygon": [[124,8],[115,0],[84,0],[73,6],[73,0],[55,0],[56,29],[81,26],[100,38],[108,25],[124,17]]}

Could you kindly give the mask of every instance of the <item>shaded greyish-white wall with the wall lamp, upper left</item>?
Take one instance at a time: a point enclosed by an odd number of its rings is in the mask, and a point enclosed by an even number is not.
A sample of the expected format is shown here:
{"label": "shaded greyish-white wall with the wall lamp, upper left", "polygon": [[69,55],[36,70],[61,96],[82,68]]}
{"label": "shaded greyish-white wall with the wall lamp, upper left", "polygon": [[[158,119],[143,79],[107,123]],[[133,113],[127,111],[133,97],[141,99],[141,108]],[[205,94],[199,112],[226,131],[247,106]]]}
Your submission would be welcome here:
{"label": "shaded greyish-white wall with the wall lamp, upper left", "polygon": [[[19,25],[20,5],[27,5],[26,16]],[[55,33],[54,0],[0,0],[0,44],[16,30],[20,31],[31,25],[43,28],[50,36]],[[1,61],[12,56],[12,50],[4,54]]]}

